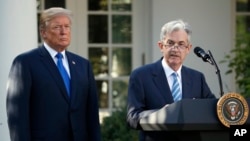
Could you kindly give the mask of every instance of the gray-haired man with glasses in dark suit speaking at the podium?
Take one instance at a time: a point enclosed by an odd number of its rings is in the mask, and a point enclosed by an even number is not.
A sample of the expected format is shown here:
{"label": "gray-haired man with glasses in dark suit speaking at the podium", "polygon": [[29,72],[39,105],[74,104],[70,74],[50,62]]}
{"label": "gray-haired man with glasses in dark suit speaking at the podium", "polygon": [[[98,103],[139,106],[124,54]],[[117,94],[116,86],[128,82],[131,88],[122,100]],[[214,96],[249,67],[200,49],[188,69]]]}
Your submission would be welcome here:
{"label": "gray-haired man with glasses in dark suit speaking at the podium", "polygon": [[[189,54],[191,29],[182,20],[163,25],[158,46],[163,57],[155,63],[135,69],[128,88],[127,123],[142,130],[139,122],[157,109],[181,99],[215,98],[204,75],[183,66]],[[191,134],[190,134],[191,136]],[[189,135],[187,135],[189,137]],[[140,141],[178,141],[170,132],[140,131]],[[186,139],[198,140],[198,136]]]}

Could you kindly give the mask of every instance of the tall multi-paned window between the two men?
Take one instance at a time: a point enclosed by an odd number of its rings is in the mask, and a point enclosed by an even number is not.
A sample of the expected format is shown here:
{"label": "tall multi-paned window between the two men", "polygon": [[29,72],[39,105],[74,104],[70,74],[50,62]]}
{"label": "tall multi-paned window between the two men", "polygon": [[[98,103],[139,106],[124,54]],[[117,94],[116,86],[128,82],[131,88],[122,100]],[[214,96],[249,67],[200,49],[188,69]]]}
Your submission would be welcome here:
{"label": "tall multi-paned window between the two men", "polygon": [[88,57],[96,77],[101,118],[125,106],[131,54],[131,0],[88,0]]}

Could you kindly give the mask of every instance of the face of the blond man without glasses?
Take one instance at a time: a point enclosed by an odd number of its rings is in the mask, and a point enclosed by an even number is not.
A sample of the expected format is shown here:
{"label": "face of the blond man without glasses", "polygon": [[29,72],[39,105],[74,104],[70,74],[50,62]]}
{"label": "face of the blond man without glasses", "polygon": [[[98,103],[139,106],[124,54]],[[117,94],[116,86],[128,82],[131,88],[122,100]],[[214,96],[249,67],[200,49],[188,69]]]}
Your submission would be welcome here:
{"label": "face of the blond man without glasses", "polygon": [[71,41],[71,22],[67,16],[56,16],[42,32],[45,42],[57,51],[66,49]]}

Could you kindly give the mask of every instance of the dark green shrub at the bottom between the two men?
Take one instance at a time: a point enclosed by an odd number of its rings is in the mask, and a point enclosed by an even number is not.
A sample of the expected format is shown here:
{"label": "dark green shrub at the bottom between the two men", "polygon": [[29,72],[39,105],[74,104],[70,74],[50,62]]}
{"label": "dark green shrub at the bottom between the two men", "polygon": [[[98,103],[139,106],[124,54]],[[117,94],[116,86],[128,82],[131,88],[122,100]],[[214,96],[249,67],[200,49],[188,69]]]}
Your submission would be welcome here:
{"label": "dark green shrub at the bottom between the two men", "polygon": [[126,108],[115,111],[103,119],[101,133],[103,141],[137,141],[138,131],[128,127]]}

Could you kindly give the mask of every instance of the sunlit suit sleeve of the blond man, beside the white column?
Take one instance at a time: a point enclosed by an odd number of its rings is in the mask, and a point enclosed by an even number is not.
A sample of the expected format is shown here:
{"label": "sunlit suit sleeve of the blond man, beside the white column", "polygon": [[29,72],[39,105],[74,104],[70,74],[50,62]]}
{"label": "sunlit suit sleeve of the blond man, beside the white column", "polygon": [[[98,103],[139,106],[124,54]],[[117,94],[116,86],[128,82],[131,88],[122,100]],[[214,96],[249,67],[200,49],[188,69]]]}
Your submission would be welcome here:
{"label": "sunlit suit sleeve of the blond man, beside the white column", "polygon": [[27,61],[17,57],[12,63],[7,82],[6,110],[11,141],[30,141],[30,87]]}

